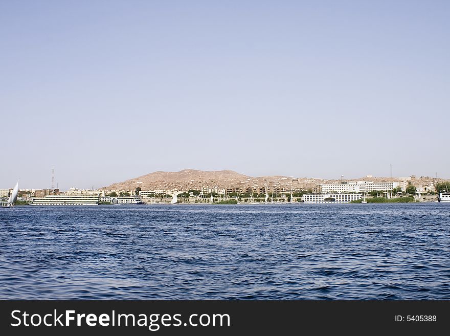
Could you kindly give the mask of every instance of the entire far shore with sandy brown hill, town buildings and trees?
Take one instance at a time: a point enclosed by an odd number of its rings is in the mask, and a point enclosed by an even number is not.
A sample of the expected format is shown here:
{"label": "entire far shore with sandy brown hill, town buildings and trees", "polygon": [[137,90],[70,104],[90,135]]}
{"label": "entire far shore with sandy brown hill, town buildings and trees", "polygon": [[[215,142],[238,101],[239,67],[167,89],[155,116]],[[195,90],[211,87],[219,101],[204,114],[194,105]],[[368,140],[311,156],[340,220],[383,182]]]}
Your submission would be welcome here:
{"label": "entire far shore with sandy brown hill, town buildings and trees", "polygon": [[[356,180],[262,176],[230,170],[154,172],[100,189],[19,189],[17,203],[31,205],[170,203],[386,203],[439,201],[450,182],[429,176]],[[12,189],[0,189],[6,203]],[[65,198],[61,197],[65,196]],[[90,197],[90,198],[89,198]],[[62,201],[64,199],[64,201]]]}

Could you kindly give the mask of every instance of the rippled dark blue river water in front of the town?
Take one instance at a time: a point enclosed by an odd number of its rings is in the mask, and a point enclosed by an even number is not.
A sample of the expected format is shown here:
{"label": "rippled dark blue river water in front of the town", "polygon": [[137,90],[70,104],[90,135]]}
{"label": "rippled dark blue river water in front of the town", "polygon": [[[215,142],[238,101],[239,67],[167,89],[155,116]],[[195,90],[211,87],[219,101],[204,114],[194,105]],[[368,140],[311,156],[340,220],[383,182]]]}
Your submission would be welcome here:
{"label": "rippled dark blue river water in front of the town", "polygon": [[450,204],[0,209],[0,299],[450,299]]}

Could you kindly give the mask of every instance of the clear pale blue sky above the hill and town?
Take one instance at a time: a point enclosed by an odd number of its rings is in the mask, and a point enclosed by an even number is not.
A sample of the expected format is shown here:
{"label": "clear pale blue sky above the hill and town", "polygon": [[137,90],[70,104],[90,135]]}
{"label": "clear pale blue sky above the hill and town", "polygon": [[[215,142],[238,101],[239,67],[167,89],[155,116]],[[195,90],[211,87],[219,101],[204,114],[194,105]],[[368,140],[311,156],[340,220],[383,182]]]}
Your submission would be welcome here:
{"label": "clear pale blue sky above the hill and town", "polygon": [[[450,177],[449,1],[0,2],[0,188]],[[445,146],[444,143],[447,145]]]}

